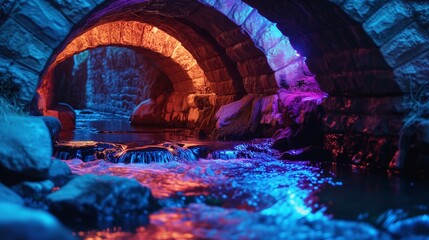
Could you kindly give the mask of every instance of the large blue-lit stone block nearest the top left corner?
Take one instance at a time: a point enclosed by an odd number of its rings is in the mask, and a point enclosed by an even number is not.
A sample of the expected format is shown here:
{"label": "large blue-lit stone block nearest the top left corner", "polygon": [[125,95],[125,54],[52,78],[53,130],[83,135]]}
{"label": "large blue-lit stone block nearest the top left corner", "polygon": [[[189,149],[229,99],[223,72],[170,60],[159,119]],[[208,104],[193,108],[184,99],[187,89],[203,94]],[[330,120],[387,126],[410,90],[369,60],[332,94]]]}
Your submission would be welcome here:
{"label": "large blue-lit stone block nearest the top left corner", "polygon": [[9,14],[52,48],[64,40],[72,27],[64,15],[46,0],[25,1]]}

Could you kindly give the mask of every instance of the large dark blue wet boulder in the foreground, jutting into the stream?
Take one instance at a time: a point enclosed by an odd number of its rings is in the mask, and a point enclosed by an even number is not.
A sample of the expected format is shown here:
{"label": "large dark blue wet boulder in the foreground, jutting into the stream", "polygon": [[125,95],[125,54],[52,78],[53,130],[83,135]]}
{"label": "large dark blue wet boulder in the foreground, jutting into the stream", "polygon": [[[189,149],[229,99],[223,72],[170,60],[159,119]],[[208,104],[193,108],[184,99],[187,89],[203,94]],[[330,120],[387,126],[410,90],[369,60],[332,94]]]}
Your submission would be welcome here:
{"label": "large dark blue wet boulder in the foreground, jutting into the stream", "polygon": [[50,211],[63,222],[89,226],[145,224],[158,204],[150,189],[133,179],[83,175],[47,196]]}

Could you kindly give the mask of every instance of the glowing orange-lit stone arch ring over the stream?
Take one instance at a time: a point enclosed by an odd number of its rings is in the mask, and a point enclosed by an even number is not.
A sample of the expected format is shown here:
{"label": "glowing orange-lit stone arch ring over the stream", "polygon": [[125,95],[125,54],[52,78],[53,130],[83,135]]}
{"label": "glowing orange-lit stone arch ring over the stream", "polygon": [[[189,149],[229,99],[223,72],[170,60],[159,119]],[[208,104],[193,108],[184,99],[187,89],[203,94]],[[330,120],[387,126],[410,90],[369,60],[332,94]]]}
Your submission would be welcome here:
{"label": "glowing orange-lit stone arch ring over the stream", "polygon": [[[116,21],[98,25],[71,41],[47,69],[39,93],[48,93],[51,71],[65,59],[98,46],[119,45],[145,49],[161,70],[170,78],[176,92],[210,93],[203,70],[177,39],[149,24]],[[148,54],[151,51],[154,54]]]}

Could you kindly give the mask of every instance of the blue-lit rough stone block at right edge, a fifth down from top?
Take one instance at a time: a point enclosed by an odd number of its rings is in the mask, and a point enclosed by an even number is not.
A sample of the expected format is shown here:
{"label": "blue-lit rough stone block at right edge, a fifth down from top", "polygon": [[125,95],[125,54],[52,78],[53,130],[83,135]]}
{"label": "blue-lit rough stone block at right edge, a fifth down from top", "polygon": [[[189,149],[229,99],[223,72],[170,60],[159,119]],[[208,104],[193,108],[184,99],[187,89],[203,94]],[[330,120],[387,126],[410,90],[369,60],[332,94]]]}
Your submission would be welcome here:
{"label": "blue-lit rough stone block at right edge, a fifth down from top", "polygon": [[428,33],[417,24],[411,24],[385,43],[380,50],[386,62],[391,67],[396,67],[429,49],[428,42]]}

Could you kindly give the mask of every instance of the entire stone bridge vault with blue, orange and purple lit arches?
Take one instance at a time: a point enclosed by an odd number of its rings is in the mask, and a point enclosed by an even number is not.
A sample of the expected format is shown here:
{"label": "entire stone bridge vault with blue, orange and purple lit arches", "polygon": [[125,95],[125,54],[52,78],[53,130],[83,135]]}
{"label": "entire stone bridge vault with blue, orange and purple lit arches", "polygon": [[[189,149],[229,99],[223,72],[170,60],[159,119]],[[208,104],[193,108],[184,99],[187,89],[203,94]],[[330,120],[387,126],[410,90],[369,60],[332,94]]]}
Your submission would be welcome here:
{"label": "entire stone bridge vault with blue, orange and purple lit arches", "polygon": [[103,45],[142,49],[177,94],[230,99],[219,103],[325,92],[333,151],[395,146],[427,100],[426,1],[10,0],[1,11],[0,74],[22,104],[56,64]]}

